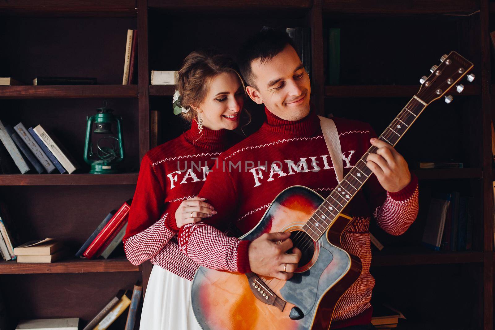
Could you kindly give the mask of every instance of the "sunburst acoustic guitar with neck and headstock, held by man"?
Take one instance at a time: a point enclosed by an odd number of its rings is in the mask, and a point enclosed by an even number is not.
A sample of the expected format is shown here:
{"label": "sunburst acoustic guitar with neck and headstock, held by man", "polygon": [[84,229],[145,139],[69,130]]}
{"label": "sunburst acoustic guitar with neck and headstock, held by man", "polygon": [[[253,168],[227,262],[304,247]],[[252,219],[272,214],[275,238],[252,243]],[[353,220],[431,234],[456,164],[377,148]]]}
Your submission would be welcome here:
{"label": "sunburst acoustic guitar with neck and headstock, held by man", "polygon": [[[455,51],[444,55],[429,77],[387,127],[380,140],[395,146],[433,101],[455,87],[473,63]],[[467,76],[472,82],[474,75]],[[452,96],[445,96],[449,103]],[[329,329],[337,302],[361,274],[361,261],[347,253],[341,236],[351,218],[342,211],[372,174],[366,167],[371,146],[325,199],[314,190],[293,186],[282,191],[249,233],[290,232],[302,257],[289,281],[200,267],[193,279],[192,305],[204,330]]]}

